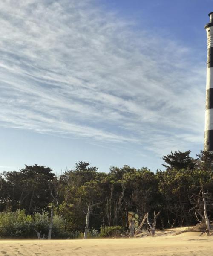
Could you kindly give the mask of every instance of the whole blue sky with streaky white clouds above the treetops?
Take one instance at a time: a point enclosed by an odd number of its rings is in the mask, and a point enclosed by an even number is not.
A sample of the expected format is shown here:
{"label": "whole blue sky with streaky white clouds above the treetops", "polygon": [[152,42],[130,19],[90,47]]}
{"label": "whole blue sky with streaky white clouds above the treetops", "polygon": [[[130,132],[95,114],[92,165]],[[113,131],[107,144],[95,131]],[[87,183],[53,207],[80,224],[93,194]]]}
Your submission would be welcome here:
{"label": "whole blue sky with streaky white clouds above the treetops", "polygon": [[210,0],[0,3],[0,171],[161,168],[203,149]]}

